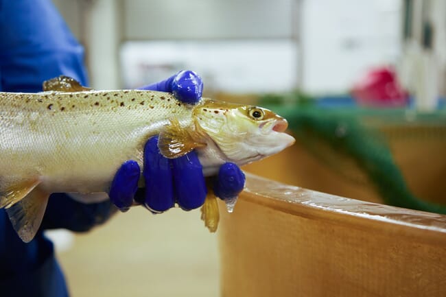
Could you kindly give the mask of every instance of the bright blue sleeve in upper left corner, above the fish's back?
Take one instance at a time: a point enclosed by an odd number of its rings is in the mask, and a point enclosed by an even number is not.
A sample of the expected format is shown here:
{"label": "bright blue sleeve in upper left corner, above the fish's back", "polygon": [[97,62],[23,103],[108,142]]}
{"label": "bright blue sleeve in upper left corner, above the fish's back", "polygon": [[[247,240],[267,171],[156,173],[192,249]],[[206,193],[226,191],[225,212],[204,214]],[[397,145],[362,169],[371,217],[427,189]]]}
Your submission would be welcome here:
{"label": "bright blue sleeve in upper left corner, above the fish's back", "polygon": [[64,74],[87,84],[84,49],[49,0],[0,0],[0,88],[42,91]]}

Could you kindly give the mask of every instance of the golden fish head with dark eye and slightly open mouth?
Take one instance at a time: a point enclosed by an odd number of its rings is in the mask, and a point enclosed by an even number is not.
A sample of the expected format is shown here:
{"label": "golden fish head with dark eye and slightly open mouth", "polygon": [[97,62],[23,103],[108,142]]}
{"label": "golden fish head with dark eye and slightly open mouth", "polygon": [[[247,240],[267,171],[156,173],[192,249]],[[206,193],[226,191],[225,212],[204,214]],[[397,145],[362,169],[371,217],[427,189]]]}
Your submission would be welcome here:
{"label": "golden fish head with dark eye and slightly open mouth", "polygon": [[285,133],[288,123],[283,117],[258,106],[207,99],[193,116],[196,129],[209,136],[226,161],[237,165],[277,154],[295,141]]}

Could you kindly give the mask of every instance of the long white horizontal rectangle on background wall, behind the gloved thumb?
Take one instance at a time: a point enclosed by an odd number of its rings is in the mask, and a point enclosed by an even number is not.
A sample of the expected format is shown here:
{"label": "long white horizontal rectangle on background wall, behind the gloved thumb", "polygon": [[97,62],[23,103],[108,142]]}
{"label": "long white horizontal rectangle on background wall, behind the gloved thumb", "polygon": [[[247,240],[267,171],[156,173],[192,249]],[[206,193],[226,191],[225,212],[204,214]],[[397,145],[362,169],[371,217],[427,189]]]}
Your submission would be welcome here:
{"label": "long white horizontal rectangle on background wall, behind the gloved thumb", "polygon": [[129,42],[121,49],[121,74],[126,88],[191,69],[207,91],[283,92],[296,86],[296,56],[292,40]]}

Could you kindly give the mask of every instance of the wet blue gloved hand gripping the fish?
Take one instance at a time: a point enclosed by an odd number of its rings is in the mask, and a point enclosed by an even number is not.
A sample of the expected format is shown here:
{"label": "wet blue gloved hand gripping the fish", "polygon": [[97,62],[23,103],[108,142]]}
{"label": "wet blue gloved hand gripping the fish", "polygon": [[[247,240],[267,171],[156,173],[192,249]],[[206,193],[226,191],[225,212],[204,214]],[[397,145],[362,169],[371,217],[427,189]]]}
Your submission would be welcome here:
{"label": "wet blue gloved hand gripping the fish", "polygon": [[[141,89],[174,93],[176,99],[187,104],[196,104],[202,95],[202,80],[193,71],[180,71],[167,80]],[[136,201],[154,213],[172,208],[175,202],[184,209],[196,209],[204,203],[207,195],[202,165],[196,152],[180,158],[168,159],[157,147],[154,136],[144,147],[143,177],[145,189],[138,189],[141,169],[136,161],[126,161],[118,169],[110,187],[110,200],[126,211]],[[221,199],[230,199],[244,188],[245,176],[239,167],[226,163],[214,184],[214,193]]]}

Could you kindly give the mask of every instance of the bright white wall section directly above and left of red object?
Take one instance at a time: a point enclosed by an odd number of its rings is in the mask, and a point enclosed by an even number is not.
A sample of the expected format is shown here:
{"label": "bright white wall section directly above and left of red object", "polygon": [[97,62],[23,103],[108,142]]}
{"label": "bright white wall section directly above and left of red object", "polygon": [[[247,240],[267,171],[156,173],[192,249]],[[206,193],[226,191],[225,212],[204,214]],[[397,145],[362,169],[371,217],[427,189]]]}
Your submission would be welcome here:
{"label": "bright white wall section directly above and left of red object", "polygon": [[369,67],[397,62],[399,0],[306,0],[303,88],[343,93]]}

